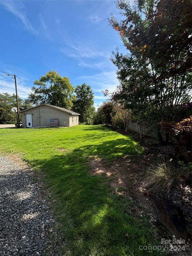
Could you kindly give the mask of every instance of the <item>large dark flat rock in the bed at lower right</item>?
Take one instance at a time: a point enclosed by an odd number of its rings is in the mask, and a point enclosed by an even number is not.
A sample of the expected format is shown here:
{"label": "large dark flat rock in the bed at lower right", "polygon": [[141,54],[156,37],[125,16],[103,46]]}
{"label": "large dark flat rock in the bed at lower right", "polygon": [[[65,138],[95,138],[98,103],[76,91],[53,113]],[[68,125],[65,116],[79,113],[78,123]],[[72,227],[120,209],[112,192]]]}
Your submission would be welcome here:
{"label": "large dark flat rock in the bed at lower right", "polygon": [[170,200],[154,197],[154,203],[162,223],[178,238],[187,240],[187,224],[182,210]]}

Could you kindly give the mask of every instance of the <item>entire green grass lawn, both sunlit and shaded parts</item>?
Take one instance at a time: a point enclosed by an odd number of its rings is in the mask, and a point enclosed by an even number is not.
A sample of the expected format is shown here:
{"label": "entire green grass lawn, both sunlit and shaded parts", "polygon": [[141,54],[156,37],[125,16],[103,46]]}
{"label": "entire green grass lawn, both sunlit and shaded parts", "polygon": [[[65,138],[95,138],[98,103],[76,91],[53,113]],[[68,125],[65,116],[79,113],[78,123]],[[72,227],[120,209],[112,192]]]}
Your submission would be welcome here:
{"label": "entire green grass lawn, both sunlit and shaded parts", "polygon": [[139,246],[157,245],[148,221],[132,216],[131,202],[112,193],[104,175],[88,172],[89,156],[110,163],[117,157],[141,154],[142,148],[131,136],[101,125],[0,129],[0,149],[19,153],[35,170],[44,172],[67,244],[62,255],[139,256],[148,255]]}

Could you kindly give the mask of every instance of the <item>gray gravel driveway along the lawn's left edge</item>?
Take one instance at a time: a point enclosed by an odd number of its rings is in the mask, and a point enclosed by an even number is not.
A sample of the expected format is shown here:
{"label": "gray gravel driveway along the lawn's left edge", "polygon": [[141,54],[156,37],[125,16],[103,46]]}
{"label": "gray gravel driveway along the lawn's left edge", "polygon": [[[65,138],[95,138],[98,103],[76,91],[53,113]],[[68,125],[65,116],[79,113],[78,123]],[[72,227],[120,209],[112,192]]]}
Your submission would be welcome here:
{"label": "gray gravel driveway along the lawn's left edge", "polygon": [[57,255],[54,217],[32,170],[0,156],[0,256]]}

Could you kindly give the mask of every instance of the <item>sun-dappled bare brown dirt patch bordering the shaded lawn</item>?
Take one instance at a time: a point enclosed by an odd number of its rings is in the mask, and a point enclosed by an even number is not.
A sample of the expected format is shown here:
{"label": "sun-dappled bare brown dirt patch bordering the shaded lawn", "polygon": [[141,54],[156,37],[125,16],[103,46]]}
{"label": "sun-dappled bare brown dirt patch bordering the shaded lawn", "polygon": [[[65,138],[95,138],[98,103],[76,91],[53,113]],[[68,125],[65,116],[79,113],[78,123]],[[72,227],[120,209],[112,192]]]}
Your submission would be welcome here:
{"label": "sun-dappled bare brown dirt patch bordering the shaded lawn", "polygon": [[132,202],[137,202],[138,204],[133,203],[131,210],[135,216],[142,217],[144,211],[146,215],[154,213],[154,210],[149,207],[152,202],[144,196],[145,189],[141,184],[146,164],[146,156],[117,159],[110,165],[106,165],[101,158],[91,158],[89,172],[92,175],[104,173],[108,177],[111,176],[112,180],[109,184],[113,192],[126,196]]}

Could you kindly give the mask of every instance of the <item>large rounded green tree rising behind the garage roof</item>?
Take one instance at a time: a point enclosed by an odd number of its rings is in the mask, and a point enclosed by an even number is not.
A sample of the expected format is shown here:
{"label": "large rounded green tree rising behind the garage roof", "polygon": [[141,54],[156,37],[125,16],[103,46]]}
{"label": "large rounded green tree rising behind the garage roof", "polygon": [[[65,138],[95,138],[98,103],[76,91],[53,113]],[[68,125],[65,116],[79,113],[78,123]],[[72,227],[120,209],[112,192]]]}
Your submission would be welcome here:
{"label": "large rounded green tree rising behind the garage roof", "polygon": [[49,71],[34,81],[29,99],[32,104],[47,103],[71,109],[75,98],[74,88],[68,77],[61,77],[56,71]]}

